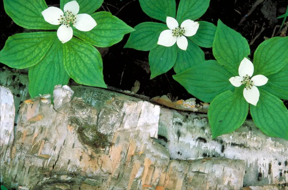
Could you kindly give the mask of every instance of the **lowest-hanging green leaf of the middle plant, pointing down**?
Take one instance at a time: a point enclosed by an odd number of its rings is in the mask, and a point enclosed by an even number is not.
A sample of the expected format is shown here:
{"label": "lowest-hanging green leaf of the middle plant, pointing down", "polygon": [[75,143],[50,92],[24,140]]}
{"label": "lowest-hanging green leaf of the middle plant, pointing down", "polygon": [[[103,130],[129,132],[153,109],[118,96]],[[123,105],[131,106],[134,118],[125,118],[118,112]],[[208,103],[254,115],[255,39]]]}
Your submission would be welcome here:
{"label": "lowest-hanging green leaf of the middle plant, pointing down", "polygon": [[150,79],[169,71],[177,59],[176,43],[171,47],[158,45],[149,52]]}

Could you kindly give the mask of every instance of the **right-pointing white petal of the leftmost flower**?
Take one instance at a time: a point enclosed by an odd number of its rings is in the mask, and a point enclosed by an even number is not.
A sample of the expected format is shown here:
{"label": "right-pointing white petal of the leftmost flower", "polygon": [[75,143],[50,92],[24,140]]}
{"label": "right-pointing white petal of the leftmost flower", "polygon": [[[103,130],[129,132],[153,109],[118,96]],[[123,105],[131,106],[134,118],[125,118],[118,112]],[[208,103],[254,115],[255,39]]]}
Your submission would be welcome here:
{"label": "right-pointing white petal of the leftmost flower", "polygon": [[74,24],[75,28],[79,31],[90,31],[97,25],[96,21],[89,14],[78,14],[76,23]]}

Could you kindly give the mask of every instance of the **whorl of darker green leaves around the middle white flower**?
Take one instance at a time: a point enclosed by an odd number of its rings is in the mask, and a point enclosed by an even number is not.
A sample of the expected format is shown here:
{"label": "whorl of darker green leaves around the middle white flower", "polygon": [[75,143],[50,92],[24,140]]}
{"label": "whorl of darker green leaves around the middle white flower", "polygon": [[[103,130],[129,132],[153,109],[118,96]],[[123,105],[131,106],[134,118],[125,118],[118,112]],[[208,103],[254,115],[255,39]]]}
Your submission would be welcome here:
{"label": "whorl of darker green leaves around the middle white flower", "polygon": [[[139,2],[142,10],[152,18],[161,20],[165,23],[167,16],[175,18],[175,0],[139,0]],[[206,12],[209,3],[210,0],[181,0],[177,12],[177,21],[179,25],[181,25],[184,20],[195,20],[202,16]],[[204,21],[199,21],[199,23],[200,25],[196,35],[187,37],[188,47],[186,50],[179,49],[175,44],[172,47],[165,47],[162,45],[160,45],[162,46],[160,47],[157,45],[160,33],[164,30],[168,30],[168,27],[166,24],[154,22],[143,22],[135,26],[135,31],[130,34],[124,47],[142,51],[150,50],[150,78],[154,78],[167,72],[173,66],[174,71],[180,73],[194,64],[204,61],[204,52],[197,45],[202,47],[212,47],[216,26]],[[174,53],[174,55],[169,55],[169,53]]]}

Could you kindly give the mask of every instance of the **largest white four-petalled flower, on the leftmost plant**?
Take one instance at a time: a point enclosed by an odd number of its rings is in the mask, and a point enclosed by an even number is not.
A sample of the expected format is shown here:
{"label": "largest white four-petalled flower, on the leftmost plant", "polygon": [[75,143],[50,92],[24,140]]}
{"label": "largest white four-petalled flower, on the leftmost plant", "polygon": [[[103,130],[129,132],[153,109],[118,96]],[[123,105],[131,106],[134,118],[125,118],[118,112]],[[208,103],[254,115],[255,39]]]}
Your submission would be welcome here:
{"label": "largest white four-petalled flower, on the leftmost plant", "polygon": [[64,5],[64,13],[57,7],[49,7],[42,11],[46,22],[61,26],[57,30],[57,36],[62,43],[66,43],[73,37],[70,23],[80,31],[90,31],[96,25],[96,21],[89,14],[78,14],[79,5],[77,1],[70,1]]}

